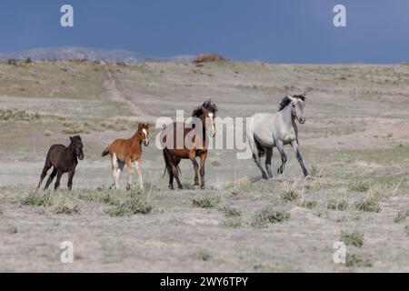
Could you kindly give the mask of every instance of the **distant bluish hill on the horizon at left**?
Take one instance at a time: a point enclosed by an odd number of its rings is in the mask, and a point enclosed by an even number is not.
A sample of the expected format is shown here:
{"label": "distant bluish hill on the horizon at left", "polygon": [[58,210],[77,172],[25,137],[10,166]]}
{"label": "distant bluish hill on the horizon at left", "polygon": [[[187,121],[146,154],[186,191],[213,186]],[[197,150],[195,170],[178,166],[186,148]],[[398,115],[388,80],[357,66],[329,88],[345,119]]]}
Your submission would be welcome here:
{"label": "distant bluish hill on the horizon at left", "polygon": [[176,55],[173,57],[147,57],[136,54],[125,49],[98,49],[79,46],[48,47],[22,50],[15,53],[0,53],[0,62],[10,58],[26,59],[30,57],[33,61],[40,59],[65,60],[70,58],[87,59],[90,61],[109,61],[125,63],[141,63],[147,60],[164,60],[185,62],[194,58],[192,55]]}

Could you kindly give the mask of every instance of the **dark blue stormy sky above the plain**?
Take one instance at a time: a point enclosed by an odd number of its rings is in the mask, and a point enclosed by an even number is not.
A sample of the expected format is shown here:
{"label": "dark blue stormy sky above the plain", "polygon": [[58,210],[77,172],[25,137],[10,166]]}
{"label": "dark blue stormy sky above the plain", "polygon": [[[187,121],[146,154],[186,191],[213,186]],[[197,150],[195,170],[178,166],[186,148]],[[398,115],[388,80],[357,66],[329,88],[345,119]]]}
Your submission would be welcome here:
{"label": "dark blue stormy sky above the plain", "polygon": [[[60,26],[60,7],[75,27]],[[346,6],[347,27],[333,25]],[[79,45],[274,63],[409,61],[408,0],[2,0],[1,52]]]}

